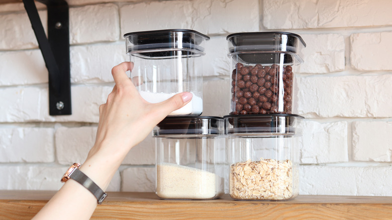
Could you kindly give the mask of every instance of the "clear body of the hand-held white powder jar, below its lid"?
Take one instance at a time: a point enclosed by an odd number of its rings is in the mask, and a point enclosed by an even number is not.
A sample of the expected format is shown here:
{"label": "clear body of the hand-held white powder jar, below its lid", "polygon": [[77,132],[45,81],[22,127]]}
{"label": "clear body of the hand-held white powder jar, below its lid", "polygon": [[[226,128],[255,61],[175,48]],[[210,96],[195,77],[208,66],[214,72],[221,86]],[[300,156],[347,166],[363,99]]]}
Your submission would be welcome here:
{"label": "clear body of the hand-held white powder jar, below its lid", "polygon": [[170,115],[199,116],[203,112],[202,57],[187,56],[186,51],[173,53],[178,57],[144,59],[131,55],[130,59],[134,62],[131,78],[141,96],[152,103],[164,101],[180,92],[191,92],[192,100]]}

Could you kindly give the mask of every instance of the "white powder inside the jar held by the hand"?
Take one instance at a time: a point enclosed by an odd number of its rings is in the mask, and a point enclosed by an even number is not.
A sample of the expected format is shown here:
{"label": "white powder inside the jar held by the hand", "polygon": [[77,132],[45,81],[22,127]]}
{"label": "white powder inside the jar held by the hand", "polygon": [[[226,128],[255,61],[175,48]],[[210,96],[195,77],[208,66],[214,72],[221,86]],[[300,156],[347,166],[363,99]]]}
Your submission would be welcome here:
{"label": "white powder inside the jar held by the hand", "polygon": [[[176,93],[157,93],[157,92],[149,92],[149,91],[139,91],[140,95],[148,102],[158,103],[164,101]],[[203,99],[199,96],[196,96],[193,92],[191,92],[193,97],[192,99],[180,109],[170,113],[170,116],[173,115],[201,115],[203,112]]]}

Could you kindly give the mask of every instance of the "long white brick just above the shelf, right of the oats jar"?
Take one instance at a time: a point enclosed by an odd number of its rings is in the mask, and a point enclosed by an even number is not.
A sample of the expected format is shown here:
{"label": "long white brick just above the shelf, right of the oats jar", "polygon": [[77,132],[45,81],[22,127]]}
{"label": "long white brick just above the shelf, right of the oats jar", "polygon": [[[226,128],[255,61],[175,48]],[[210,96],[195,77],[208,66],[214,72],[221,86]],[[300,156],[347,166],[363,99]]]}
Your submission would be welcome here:
{"label": "long white brick just above the shelf, right of the oats jar", "polygon": [[304,195],[392,195],[392,166],[301,166],[300,174]]}

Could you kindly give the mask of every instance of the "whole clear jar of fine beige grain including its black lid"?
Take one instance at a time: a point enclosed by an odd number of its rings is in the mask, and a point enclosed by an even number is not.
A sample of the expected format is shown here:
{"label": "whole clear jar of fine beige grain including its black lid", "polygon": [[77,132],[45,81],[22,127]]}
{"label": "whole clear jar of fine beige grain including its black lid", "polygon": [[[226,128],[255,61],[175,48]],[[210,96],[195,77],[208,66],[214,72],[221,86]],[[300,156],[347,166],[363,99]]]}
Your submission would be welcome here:
{"label": "whole clear jar of fine beige grain including its black lid", "polygon": [[167,117],[156,138],[156,194],[162,199],[214,199],[225,190],[224,120]]}

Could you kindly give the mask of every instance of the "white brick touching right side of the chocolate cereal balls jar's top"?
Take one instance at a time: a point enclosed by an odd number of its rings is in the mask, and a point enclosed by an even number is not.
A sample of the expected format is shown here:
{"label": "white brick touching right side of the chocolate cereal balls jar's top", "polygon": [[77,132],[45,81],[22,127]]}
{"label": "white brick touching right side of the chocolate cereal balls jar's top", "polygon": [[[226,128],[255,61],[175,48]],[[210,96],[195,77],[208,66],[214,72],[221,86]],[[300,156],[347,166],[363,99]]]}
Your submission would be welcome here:
{"label": "white brick touching right side of the chocolate cereal balls jar's top", "polygon": [[300,73],[329,73],[344,70],[344,38],[338,34],[301,35],[306,43]]}

